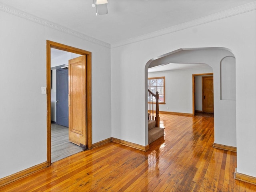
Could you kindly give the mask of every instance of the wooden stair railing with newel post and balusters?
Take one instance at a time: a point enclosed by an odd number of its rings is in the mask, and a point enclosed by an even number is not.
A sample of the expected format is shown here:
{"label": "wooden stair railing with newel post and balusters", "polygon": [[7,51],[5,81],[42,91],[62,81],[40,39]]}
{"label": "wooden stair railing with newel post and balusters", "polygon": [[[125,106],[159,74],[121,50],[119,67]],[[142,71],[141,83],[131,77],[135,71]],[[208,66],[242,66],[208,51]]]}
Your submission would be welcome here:
{"label": "wooden stair railing with newel post and balusters", "polygon": [[[156,92],[156,94],[154,94],[152,91],[150,91],[148,89],[149,92],[149,116],[148,119],[151,120],[151,114],[152,114],[152,120],[156,121],[156,127],[160,126],[160,118],[159,118],[159,94],[158,91]],[[152,102],[151,102],[151,98],[152,98]],[[156,98],[156,102],[154,102],[154,98]],[[156,117],[154,119],[154,103],[156,104]],[[151,106],[152,106],[152,113],[151,113]]]}

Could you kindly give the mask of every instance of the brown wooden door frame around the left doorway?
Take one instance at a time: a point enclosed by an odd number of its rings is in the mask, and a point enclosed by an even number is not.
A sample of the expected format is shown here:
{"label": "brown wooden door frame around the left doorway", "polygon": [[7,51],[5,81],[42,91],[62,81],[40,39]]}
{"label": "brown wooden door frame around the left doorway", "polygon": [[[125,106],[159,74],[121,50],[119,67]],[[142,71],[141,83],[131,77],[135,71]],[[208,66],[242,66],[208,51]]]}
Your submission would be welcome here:
{"label": "brown wooden door frame around the left doorway", "polygon": [[86,55],[86,118],[87,147],[92,148],[92,53],[50,40],[46,40],[46,103],[47,103],[47,166],[51,165],[51,48]]}

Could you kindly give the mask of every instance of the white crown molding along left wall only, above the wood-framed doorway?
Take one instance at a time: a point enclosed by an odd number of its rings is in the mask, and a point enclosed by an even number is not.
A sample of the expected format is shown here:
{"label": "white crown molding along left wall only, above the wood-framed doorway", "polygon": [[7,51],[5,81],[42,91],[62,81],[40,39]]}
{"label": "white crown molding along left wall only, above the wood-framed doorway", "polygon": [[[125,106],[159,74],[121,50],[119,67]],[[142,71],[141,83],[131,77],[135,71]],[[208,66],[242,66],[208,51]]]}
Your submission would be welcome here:
{"label": "white crown molding along left wall only, above the wood-framed doorway", "polygon": [[95,39],[95,38],[92,38],[90,36],[87,36],[85,34],[82,34],[80,32],[77,32],[77,31],[74,31],[70,28],[66,28],[64,26],[61,26],[59,24],[56,24],[54,22],[50,22],[48,20],[45,20],[45,19],[42,19],[42,18],[39,18],[37,16],[34,16],[34,15],[31,15],[31,14],[28,14],[22,10],[19,10],[19,9],[16,9],[12,6],[9,6],[9,5],[6,5],[6,4],[3,4],[0,2],[0,10],[1,11],[4,11],[4,12],[7,12],[7,13],[10,13],[12,15],[15,15],[15,16],[18,16],[20,18],[24,18],[26,20],[29,20],[29,21],[32,21],[32,22],[35,22],[37,24],[41,24],[41,25],[44,25],[44,26],[47,26],[49,28],[52,28],[52,29],[55,29],[55,30],[58,30],[60,32],[64,32],[66,34],[70,34],[72,36],[75,36],[75,37],[78,37],[80,39],[83,39],[83,40],[87,40],[89,42],[92,42],[92,43],[95,43],[95,44],[98,44],[98,45],[101,45],[101,46],[104,46],[104,47],[107,47],[107,48],[110,48],[110,44],[106,43],[106,42],[103,42],[103,41],[100,41],[98,39]]}

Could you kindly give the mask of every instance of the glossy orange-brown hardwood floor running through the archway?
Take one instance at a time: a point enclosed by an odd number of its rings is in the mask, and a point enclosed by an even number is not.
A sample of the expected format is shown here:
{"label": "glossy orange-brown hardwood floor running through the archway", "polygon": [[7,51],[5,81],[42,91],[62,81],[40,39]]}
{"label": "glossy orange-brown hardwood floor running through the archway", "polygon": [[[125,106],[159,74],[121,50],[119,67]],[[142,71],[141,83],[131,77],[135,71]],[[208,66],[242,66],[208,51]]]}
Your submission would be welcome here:
{"label": "glossy orange-brown hardwood floor running through the archway", "polygon": [[212,147],[212,116],[160,114],[147,152],[110,142],[54,162],[1,192],[256,192],[234,179],[236,153]]}

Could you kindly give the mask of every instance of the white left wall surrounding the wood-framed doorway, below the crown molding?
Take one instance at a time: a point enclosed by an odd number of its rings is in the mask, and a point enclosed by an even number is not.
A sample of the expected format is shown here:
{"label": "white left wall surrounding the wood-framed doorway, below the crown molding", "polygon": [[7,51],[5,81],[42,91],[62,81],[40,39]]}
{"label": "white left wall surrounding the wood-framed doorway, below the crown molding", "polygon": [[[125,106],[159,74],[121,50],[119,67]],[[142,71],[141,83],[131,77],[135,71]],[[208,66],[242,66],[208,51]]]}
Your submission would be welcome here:
{"label": "white left wall surrounding the wood-framed doorway, below the crown molding", "polygon": [[0,18],[0,178],[46,161],[46,40],[92,52],[92,143],[110,138],[110,48],[6,12]]}

